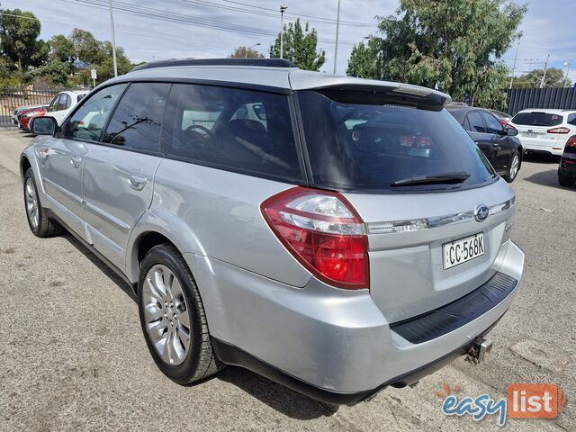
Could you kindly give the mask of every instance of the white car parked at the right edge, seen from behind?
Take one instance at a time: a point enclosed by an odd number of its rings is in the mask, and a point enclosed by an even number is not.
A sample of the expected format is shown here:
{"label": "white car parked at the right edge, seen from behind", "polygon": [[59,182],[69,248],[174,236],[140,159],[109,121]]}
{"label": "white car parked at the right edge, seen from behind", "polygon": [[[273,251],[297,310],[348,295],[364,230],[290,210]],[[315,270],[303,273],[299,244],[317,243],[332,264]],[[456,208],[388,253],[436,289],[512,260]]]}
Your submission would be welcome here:
{"label": "white car parked at the right edge, seen from behind", "polygon": [[562,156],[566,141],[576,134],[576,110],[527,109],[509,123],[527,151]]}

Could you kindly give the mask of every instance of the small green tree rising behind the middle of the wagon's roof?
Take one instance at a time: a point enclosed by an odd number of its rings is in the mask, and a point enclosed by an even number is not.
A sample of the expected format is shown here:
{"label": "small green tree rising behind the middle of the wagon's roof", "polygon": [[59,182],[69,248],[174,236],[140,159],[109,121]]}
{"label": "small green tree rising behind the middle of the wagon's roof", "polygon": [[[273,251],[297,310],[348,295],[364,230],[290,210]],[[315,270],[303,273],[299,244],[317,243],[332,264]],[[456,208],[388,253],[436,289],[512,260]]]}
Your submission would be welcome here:
{"label": "small green tree rising behind the middle of the wagon's roof", "polygon": [[[284,55],[292,60],[296,66],[306,70],[320,70],[326,62],[326,52],[317,49],[318,33],[316,29],[309,29],[308,23],[302,29],[300,18],[296,23],[284,25]],[[276,37],[274,45],[270,46],[270,58],[280,58],[280,34]]]}

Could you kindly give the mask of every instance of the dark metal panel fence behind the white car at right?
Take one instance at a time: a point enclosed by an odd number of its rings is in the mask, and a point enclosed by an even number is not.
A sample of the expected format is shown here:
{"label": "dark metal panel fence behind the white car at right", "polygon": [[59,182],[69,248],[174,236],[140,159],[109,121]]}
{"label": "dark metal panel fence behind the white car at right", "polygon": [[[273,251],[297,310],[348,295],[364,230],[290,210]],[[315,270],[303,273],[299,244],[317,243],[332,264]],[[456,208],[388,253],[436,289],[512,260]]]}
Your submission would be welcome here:
{"label": "dark metal panel fence behind the white car at right", "polygon": [[508,90],[508,110],[511,115],[527,108],[576,109],[576,88],[513,88]]}

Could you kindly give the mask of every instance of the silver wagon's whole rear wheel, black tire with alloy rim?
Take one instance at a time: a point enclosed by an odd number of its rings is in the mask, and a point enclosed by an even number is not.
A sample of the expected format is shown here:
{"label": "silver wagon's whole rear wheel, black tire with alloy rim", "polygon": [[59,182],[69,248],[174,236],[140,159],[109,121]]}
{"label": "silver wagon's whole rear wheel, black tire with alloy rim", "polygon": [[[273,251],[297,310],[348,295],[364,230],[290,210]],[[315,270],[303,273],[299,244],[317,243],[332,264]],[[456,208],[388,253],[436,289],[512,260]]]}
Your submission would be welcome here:
{"label": "silver wagon's whole rear wheel, black tire with alloy rim", "polygon": [[138,309],[148,350],[172,381],[194,383],[223,367],[212,350],[198,287],[174,246],[152,247],[142,260]]}

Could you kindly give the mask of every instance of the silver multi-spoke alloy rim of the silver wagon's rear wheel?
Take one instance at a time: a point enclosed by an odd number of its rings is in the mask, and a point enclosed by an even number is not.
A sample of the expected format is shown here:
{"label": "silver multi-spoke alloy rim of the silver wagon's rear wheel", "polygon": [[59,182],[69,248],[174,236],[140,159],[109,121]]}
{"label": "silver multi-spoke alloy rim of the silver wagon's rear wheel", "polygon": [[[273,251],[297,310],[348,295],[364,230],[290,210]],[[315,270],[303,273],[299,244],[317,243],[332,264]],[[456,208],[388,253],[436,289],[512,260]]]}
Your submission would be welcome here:
{"label": "silver multi-spoke alloy rim of the silver wagon's rear wheel", "polygon": [[143,293],[145,329],[157,355],[167,365],[180,365],[190,348],[190,317],[182,284],[166,266],[148,270]]}

